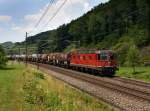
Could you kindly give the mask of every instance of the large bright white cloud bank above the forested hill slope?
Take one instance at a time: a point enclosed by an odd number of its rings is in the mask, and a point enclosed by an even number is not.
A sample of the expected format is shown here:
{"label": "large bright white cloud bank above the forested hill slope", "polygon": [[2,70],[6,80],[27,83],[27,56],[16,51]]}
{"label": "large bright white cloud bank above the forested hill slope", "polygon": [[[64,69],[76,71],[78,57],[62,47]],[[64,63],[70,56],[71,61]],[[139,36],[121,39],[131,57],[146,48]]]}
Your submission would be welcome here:
{"label": "large bright white cloud bank above the forested hill slope", "polygon": [[[51,6],[47,15],[44,17],[38,28],[34,30],[32,35],[40,33],[42,31],[55,29],[64,23],[69,23],[71,20],[78,18],[79,16],[83,15],[83,13],[86,13],[93,7],[91,0],[67,0],[67,3],[60,10],[57,16],[47,26],[45,26],[45,24],[56,12],[56,10],[62,4],[63,1],[64,0],[58,0],[55,4]],[[99,3],[100,2],[101,0],[99,0]],[[10,38],[9,40],[12,41],[23,41],[25,39],[25,32],[30,32],[31,30],[34,29],[35,24],[37,23],[41,15],[44,13],[47,6],[48,4],[45,5],[43,8],[41,8],[36,13],[24,15],[24,17],[21,20],[24,22],[24,24],[11,25],[11,29],[9,31],[8,30],[6,31],[5,36],[9,37]],[[7,21],[10,21],[12,19],[11,17],[9,18],[9,16],[6,18]],[[6,41],[5,38],[3,39]]]}

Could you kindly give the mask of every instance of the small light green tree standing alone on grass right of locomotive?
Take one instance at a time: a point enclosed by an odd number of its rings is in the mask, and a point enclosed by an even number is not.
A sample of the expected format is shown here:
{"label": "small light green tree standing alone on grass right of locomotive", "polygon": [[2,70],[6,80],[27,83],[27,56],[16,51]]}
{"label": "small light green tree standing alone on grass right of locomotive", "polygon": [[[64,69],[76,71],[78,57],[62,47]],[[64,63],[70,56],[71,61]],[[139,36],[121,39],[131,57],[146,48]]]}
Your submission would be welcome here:
{"label": "small light green tree standing alone on grass right of locomotive", "polygon": [[135,66],[140,63],[139,50],[135,45],[130,46],[126,60],[128,65],[133,68],[133,73],[135,73]]}

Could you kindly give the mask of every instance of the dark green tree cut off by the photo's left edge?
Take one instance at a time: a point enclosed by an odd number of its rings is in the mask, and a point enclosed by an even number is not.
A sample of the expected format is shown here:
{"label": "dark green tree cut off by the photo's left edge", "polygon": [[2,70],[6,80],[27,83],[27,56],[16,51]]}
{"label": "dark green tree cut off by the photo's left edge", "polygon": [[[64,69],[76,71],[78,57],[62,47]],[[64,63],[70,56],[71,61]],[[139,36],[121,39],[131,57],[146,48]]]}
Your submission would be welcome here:
{"label": "dark green tree cut off by the photo's left edge", "polygon": [[5,51],[2,48],[2,46],[0,46],[0,67],[6,65],[7,59],[5,57]]}

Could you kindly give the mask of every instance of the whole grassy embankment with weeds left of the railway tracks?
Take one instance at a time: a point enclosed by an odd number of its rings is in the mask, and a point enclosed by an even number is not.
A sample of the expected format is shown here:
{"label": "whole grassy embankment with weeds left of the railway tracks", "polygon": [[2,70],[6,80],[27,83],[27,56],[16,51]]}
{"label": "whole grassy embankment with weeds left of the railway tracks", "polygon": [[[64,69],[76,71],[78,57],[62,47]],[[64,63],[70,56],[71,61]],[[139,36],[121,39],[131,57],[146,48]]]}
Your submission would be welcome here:
{"label": "whole grassy embankment with weeds left of the railway tracks", "polygon": [[0,111],[112,111],[67,84],[22,64],[0,69]]}

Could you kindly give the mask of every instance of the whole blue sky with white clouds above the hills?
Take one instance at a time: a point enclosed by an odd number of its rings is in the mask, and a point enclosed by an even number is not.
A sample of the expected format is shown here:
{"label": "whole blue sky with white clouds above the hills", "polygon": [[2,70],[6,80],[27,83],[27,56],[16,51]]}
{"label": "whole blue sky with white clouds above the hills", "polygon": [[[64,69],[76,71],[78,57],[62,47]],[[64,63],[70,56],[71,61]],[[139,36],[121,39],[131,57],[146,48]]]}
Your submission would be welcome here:
{"label": "whole blue sky with white clouds above the hills", "polygon": [[[59,13],[50,21],[65,0],[0,0],[0,43],[21,42],[28,36],[56,29],[62,24],[87,13],[93,7],[108,0],[66,0]],[[50,4],[50,5],[49,5]],[[41,15],[50,7],[40,24]]]}

